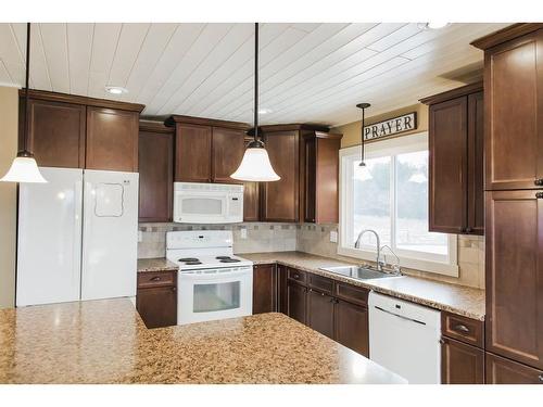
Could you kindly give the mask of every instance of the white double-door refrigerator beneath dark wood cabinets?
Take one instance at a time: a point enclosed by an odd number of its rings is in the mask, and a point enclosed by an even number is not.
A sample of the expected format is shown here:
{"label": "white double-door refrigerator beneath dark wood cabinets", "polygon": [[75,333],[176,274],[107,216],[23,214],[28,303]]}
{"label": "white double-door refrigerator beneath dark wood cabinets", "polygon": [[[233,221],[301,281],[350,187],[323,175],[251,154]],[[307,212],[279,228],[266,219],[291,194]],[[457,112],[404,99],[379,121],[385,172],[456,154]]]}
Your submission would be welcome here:
{"label": "white double-door refrigerator beneath dark wood cabinets", "polygon": [[16,305],[135,296],[138,174],[40,170],[20,186]]}

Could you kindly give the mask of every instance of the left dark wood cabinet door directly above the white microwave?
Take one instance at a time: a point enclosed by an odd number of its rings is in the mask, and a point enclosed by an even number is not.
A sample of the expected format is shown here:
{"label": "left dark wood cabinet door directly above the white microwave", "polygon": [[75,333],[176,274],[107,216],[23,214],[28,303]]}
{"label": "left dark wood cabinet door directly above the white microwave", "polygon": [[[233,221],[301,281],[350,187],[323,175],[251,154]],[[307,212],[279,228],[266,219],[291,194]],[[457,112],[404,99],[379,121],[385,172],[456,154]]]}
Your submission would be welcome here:
{"label": "left dark wood cabinet door directly above the white microwave", "polygon": [[210,182],[212,128],[178,123],[175,137],[175,180]]}

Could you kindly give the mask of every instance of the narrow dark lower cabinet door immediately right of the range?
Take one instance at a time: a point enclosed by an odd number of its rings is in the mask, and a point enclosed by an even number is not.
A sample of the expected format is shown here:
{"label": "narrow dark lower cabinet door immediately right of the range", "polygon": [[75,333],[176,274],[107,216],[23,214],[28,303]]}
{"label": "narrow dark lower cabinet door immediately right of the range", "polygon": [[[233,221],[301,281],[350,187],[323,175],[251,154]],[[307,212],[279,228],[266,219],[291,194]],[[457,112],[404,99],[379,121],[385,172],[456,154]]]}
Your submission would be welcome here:
{"label": "narrow dark lower cabinet door immediately right of the range", "polygon": [[277,310],[276,265],[256,265],[253,267],[253,314]]}

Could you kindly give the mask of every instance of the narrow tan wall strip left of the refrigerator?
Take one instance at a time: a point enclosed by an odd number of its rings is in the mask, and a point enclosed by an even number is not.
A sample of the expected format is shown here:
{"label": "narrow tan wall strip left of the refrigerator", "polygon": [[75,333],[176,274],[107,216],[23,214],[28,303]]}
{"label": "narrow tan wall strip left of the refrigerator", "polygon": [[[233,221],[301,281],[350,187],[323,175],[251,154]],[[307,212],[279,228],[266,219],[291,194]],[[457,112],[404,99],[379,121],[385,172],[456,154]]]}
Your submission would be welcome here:
{"label": "narrow tan wall strip left of the refrigerator", "polygon": [[[0,87],[0,177],[17,153],[17,91]],[[15,302],[16,188],[0,182],[0,308]]]}

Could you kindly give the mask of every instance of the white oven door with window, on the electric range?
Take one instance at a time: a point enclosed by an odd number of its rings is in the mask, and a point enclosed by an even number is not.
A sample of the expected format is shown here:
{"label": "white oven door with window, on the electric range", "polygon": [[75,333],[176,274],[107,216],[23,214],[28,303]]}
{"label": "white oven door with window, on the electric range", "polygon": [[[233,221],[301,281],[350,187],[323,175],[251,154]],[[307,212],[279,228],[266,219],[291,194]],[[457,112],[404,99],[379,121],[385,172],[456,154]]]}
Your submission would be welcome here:
{"label": "white oven door with window, on the electric range", "polygon": [[253,311],[253,270],[182,271],[177,292],[177,325],[248,316]]}

